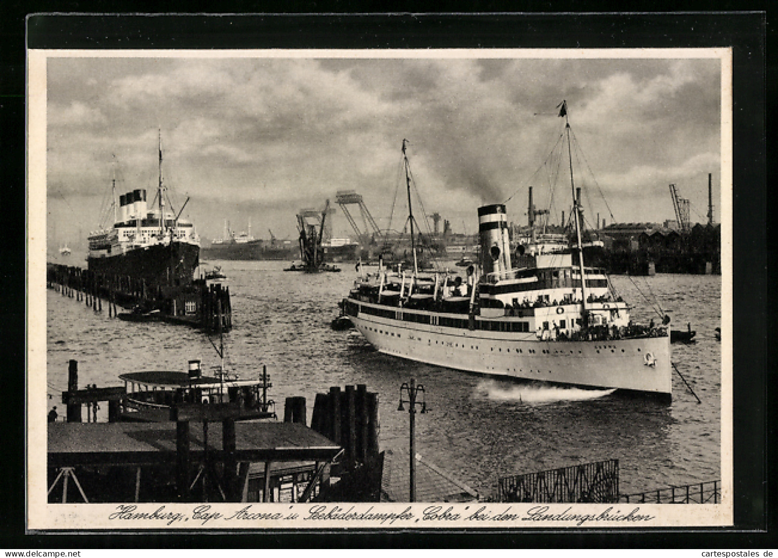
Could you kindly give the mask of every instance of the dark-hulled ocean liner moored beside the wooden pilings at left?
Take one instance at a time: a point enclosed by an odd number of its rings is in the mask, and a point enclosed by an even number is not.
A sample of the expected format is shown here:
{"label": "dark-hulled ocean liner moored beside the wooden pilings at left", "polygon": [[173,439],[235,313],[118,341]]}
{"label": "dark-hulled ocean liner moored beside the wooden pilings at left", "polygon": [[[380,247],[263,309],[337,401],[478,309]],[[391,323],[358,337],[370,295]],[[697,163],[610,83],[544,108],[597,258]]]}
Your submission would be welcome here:
{"label": "dark-hulled ocean liner moored beside the wooden pilings at left", "polygon": [[121,194],[117,205],[115,177],[111,184],[114,225],[89,234],[89,270],[131,277],[149,288],[191,284],[199,263],[200,239],[191,221],[180,218],[186,202],[177,214],[166,209],[170,200],[162,177],[161,134],[156,208],[149,208],[142,189]]}

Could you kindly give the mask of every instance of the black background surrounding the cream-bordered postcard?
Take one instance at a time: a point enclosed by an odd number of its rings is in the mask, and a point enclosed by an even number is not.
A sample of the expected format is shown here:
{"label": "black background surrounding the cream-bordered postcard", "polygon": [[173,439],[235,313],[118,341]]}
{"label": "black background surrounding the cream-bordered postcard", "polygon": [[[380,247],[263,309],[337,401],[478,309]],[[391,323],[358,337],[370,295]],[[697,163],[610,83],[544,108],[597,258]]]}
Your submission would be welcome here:
{"label": "black background surrounding the cream-bordered postcard", "polygon": [[[122,5],[124,4],[124,5]],[[127,2],[69,2],[80,12],[129,11]],[[654,2],[652,6],[656,6]],[[364,5],[282,5],[294,10],[364,10]],[[156,5],[157,9],[184,8]],[[227,9],[227,6],[219,6]],[[774,326],[767,321],[775,309],[767,269],[774,269],[775,252],[768,248],[766,188],[766,12],[674,13],[541,13],[548,3],[529,2],[524,14],[492,13],[412,15],[394,13],[328,16],[76,16],[51,15],[62,9],[40,2],[30,6],[6,2],[0,10],[0,211],[3,254],[2,293],[2,418],[3,457],[0,475],[0,548],[63,549],[151,546],[156,548],[310,546],[457,547],[508,546],[516,549],[552,547],[687,547],[775,548],[764,532],[770,521],[768,473],[775,471],[768,434],[774,432]],[[408,6],[403,6],[408,8]],[[569,6],[570,8],[573,5]],[[611,6],[612,7],[612,6]],[[640,4],[630,5],[637,9]],[[732,7],[732,6],[730,6]],[[188,3],[187,11],[197,6]],[[233,12],[277,12],[268,5],[244,5]],[[500,6],[504,9],[504,6]],[[211,8],[212,9],[212,8]],[[419,6],[415,5],[419,10]],[[468,9],[496,12],[477,2]],[[516,9],[516,6],[513,6]],[[559,8],[556,8],[559,9]],[[654,7],[654,9],[656,9]],[[132,9],[135,11],[135,9]],[[176,10],[178,11],[178,10]],[[44,14],[50,12],[50,15]],[[26,37],[25,37],[25,33]],[[26,43],[25,43],[26,40]],[[733,47],[734,66],[734,476],[733,529],[664,530],[650,532],[328,532],[300,535],[24,535],[25,521],[25,45],[29,48],[492,48],[492,47]],[[775,316],[775,312],[769,312]],[[773,320],[774,321],[774,320]],[[770,369],[769,369],[769,368]],[[9,435],[10,434],[10,435]],[[771,436],[772,438],[772,436]],[[771,475],[772,478],[775,478]],[[736,532],[737,531],[737,532]],[[401,552],[401,551],[398,551]]]}

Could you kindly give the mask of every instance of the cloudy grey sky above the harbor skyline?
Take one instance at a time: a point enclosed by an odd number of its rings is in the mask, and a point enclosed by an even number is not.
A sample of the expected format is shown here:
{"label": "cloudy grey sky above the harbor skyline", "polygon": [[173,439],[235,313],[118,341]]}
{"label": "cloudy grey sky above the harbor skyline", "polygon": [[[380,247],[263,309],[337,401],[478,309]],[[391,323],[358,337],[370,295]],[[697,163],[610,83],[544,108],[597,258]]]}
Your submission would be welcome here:
{"label": "cloudy grey sky above the harbor skyline", "polygon": [[[296,212],[337,190],[363,194],[388,227],[403,138],[428,214],[472,233],[478,205],[510,198],[526,223],[527,187],[549,203],[562,99],[589,218],[610,219],[602,195],[617,221],[674,218],[672,182],[705,221],[713,173],[719,221],[717,59],[49,58],[49,246],[100,225],[114,168],[117,193],[153,196],[158,129],[164,179],[177,208],[191,197],[203,239],[225,219],[295,238]],[[556,222],[569,182],[553,191]],[[333,226],[351,233],[339,209]]]}

